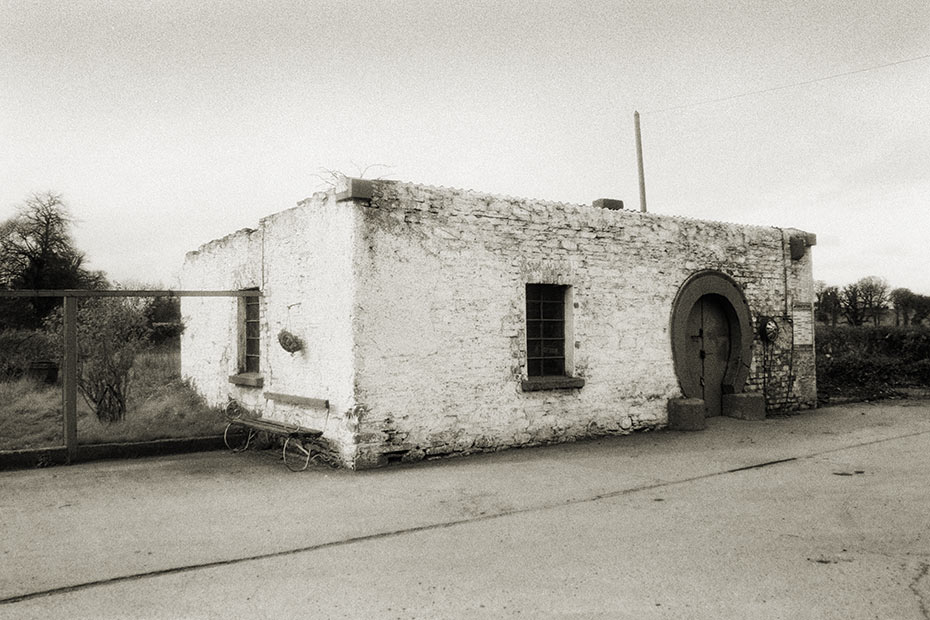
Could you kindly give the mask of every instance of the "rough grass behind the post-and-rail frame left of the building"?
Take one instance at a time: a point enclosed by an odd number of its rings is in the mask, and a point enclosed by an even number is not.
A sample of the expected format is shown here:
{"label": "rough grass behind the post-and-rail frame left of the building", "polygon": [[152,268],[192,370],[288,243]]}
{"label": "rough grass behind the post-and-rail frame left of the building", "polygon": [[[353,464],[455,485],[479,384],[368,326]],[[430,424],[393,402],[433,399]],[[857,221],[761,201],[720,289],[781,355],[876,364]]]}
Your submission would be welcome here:
{"label": "rough grass behind the post-and-rail frame left of the building", "polygon": [[[79,444],[201,437],[223,432],[220,409],[206,406],[181,379],[177,347],[145,351],[136,357],[126,418],[102,424],[78,396]],[[31,379],[0,382],[0,450],[60,446],[61,385]]]}

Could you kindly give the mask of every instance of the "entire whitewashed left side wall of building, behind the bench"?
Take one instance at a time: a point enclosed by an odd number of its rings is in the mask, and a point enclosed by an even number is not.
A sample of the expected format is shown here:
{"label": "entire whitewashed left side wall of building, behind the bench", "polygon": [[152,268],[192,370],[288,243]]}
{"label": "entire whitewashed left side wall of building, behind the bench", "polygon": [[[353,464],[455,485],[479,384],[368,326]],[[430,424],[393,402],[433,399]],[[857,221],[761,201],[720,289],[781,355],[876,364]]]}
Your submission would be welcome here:
{"label": "entire whitewashed left side wall of building, behind the bench", "polygon": [[[262,291],[261,385],[231,383],[237,368],[237,301],[183,298],[182,372],[213,405],[232,398],[281,422],[324,431],[346,464],[355,457],[352,368],[353,243],[358,214],[318,194],[187,255],[187,289]],[[304,348],[289,353],[282,330]],[[292,398],[296,397],[296,398]],[[308,406],[301,401],[328,401]]]}

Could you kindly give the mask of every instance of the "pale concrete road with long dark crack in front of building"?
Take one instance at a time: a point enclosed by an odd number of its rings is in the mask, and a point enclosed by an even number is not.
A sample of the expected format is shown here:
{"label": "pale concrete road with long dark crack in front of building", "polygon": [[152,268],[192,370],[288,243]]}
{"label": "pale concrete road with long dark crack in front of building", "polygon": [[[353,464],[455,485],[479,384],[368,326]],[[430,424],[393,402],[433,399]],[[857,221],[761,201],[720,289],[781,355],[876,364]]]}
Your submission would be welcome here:
{"label": "pale concrete road with long dark crack in front of building", "polygon": [[0,473],[0,618],[928,618],[930,402],[371,472]]}

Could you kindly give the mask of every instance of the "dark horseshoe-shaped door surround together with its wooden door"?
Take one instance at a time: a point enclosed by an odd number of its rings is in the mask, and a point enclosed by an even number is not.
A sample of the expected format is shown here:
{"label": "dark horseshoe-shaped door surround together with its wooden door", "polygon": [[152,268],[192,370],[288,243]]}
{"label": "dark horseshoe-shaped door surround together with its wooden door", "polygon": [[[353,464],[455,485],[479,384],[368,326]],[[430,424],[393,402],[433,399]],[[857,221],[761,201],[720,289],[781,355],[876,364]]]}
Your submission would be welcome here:
{"label": "dark horseshoe-shaped door surround together with its wooden door", "polygon": [[704,401],[706,416],[722,411],[724,394],[738,394],[752,359],[752,318],[742,290],[716,271],[693,274],[672,306],[672,356],[686,398]]}

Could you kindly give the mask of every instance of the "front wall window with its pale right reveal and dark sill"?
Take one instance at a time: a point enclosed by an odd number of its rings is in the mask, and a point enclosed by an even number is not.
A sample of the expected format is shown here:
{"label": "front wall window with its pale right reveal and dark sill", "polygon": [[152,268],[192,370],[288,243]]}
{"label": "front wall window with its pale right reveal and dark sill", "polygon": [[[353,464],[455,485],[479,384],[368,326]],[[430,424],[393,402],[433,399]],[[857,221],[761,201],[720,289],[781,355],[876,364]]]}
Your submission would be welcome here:
{"label": "front wall window with its pale right reveal and dark sill", "polygon": [[524,392],[580,388],[572,375],[572,289],[559,284],[526,285],[526,374]]}

